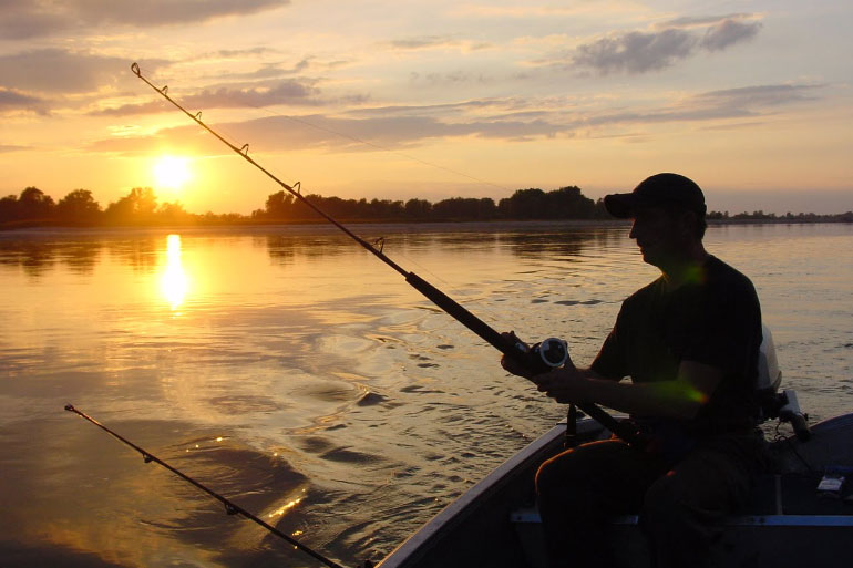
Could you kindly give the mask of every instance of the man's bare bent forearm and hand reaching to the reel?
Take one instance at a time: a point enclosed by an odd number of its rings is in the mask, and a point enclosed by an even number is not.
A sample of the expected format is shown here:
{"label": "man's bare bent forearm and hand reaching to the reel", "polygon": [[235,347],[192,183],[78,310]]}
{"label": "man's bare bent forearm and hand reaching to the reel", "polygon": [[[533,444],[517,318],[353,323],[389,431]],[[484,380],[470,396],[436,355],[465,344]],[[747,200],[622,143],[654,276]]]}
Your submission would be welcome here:
{"label": "man's bare bent forearm and hand reaching to the reel", "polygon": [[561,403],[596,403],[639,416],[692,419],[722,381],[722,371],[705,363],[682,361],[678,378],[670,381],[624,383],[575,366],[556,369],[530,380]]}

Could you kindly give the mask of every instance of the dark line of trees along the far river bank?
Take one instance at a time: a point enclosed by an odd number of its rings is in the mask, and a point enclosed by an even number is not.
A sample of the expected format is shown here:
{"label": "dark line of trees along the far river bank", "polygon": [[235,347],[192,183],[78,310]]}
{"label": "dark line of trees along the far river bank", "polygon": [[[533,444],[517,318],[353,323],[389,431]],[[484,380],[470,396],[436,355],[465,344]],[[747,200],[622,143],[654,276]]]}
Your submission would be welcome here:
{"label": "dark line of trees along the far river bank", "polygon": [[[491,197],[451,197],[436,203],[426,199],[342,199],[307,195],[308,200],[333,218],[348,221],[442,221],[442,220],[547,220],[609,219],[603,199],[586,197],[579,187],[566,186],[545,192],[518,189],[495,203]],[[763,211],[710,211],[709,220],[853,221],[853,213],[842,215],[791,214],[777,216]],[[178,202],[158,203],[151,187],[134,187],[127,195],[102,207],[88,189],[74,189],[59,202],[38,187],[20,195],[0,198],[0,227],[37,225],[126,226],[178,224],[310,223],[320,216],[301,199],[280,190],[270,194],[263,209],[240,214],[197,215]]]}

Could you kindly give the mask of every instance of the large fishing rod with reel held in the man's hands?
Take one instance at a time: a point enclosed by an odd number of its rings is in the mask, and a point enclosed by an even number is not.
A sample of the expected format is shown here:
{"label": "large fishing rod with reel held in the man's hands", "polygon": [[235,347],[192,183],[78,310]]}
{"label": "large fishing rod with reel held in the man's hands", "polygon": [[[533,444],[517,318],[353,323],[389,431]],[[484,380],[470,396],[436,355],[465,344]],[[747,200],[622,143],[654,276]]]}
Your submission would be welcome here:
{"label": "large fishing rod with reel held in the man's hands", "polygon": [[[182,106],[177,101],[172,99],[168,95],[168,85],[165,85],[163,87],[158,87],[154,85],[151,81],[148,81],[145,75],[142,74],[142,70],[140,70],[138,63],[133,63],[131,65],[131,71],[140,78],[145,84],[147,84],[150,87],[152,87],[154,91],[157,92],[161,96],[163,96],[166,101],[172,103],[175,107],[177,107],[181,112],[186,114],[192,121],[194,121],[196,124],[198,124],[201,127],[216,136],[216,138],[219,140],[223,144],[228,146],[233,152],[238,154],[240,157],[243,157],[246,162],[258,168],[260,172],[267,175],[270,179],[273,179],[276,184],[278,184],[280,187],[282,187],[285,190],[287,190],[290,195],[292,195],[296,199],[308,206],[311,210],[317,213],[320,217],[329,221],[330,224],[335,225],[338,229],[343,231],[348,237],[350,237],[352,240],[358,242],[361,247],[363,247],[368,252],[372,254],[377,258],[379,258],[382,262],[390,266],[392,269],[394,269],[397,272],[399,272],[403,278],[405,278],[405,281],[411,285],[415,290],[421,292],[426,299],[429,299],[431,302],[433,302],[435,306],[444,310],[448,314],[450,314],[452,318],[454,318],[456,321],[465,326],[467,329],[473,331],[476,335],[479,335],[481,339],[485,340],[490,345],[497,349],[501,353],[504,355],[513,359],[521,365],[523,365],[532,375],[545,373],[547,371],[551,371],[553,369],[562,366],[566,361],[568,361],[568,347],[566,345],[566,342],[558,338],[547,338],[539,343],[536,343],[532,347],[528,347],[523,341],[514,341],[505,338],[501,333],[499,333],[494,328],[490,327],[487,323],[485,323],[483,320],[471,313],[469,310],[463,308],[461,304],[459,304],[455,300],[450,298],[448,295],[432,286],[430,282],[421,278],[420,276],[415,275],[414,272],[410,272],[408,270],[404,270],[400,265],[388,258],[388,256],[382,251],[383,245],[381,244],[380,239],[380,246],[377,248],[374,245],[371,245],[370,242],[366,241],[354,233],[352,233],[350,229],[348,229],[346,226],[341,225],[337,219],[331,217],[329,214],[320,209],[317,205],[315,205],[310,199],[306,198],[301,194],[301,186],[300,183],[297,182],[295,185],[288,185],[275,175],[270,173],[268,169],[266,169],[264,166],[255,162],[255,159],[249,156],[249,145],[244,144],[241,147],[237,147],[236,145],[232,144],[227,140],[225,140],[218,132],[213,130],[210,126],[208,126],[205,122],[202,121],[202,112],[197,112],[195,114],[191,113],[184,106]],[[641,436],[630,427],[628,424],[618,422],[616,419],[610,416],[607,412],[602,410],[595,404],[578,404],[578,409],[580,409],[583,412],[585,412],[589,417],[602,424],[604,427],[623,438],[625,442],[629,443],[630,445],[641,447],[644,445],[644,441]],[[571,426],[571,425],[569,425]]]}

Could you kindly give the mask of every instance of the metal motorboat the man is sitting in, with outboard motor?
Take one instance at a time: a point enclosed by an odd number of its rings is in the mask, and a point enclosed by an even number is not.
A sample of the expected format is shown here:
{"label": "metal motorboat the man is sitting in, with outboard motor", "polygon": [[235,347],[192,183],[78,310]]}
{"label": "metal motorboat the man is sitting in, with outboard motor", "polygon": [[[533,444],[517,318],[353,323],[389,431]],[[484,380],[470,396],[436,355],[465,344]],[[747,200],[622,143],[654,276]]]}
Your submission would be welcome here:
{"label": "metal motorboat the man is sitting in, with outboard motor", "polygon": [[[809,426],[797,393],[779,392],[781,372],[764,328],[760,384],[771,467],[749,502],[723,521],[713,567],[841,568],[853,564],[853,413]],[[775,422],[772,420],[775,419]],[[574,442],[610,433],[584,416]],[[565,447],[563,422],[451,503],[381,560],[378,568],[547,568],[533,493],[538,466]],[[619,568],[648,568],[638,515],[615,517],[608,539]]]}

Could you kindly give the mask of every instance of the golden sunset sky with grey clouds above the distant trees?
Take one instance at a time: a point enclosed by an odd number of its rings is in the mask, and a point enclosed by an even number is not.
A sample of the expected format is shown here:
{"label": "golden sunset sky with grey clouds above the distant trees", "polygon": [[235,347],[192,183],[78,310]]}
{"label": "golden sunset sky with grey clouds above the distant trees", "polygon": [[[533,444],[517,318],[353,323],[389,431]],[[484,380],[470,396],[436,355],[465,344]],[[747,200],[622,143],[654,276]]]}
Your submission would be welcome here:
{"label": "golden sunset sky with grey clouds above the distant trees", "polygon": [[[853,3],[0,0],[0,195],[508,197],[693,178],[712,210],[853,210]],[[164,162],[165,159],[165,162]]]}

